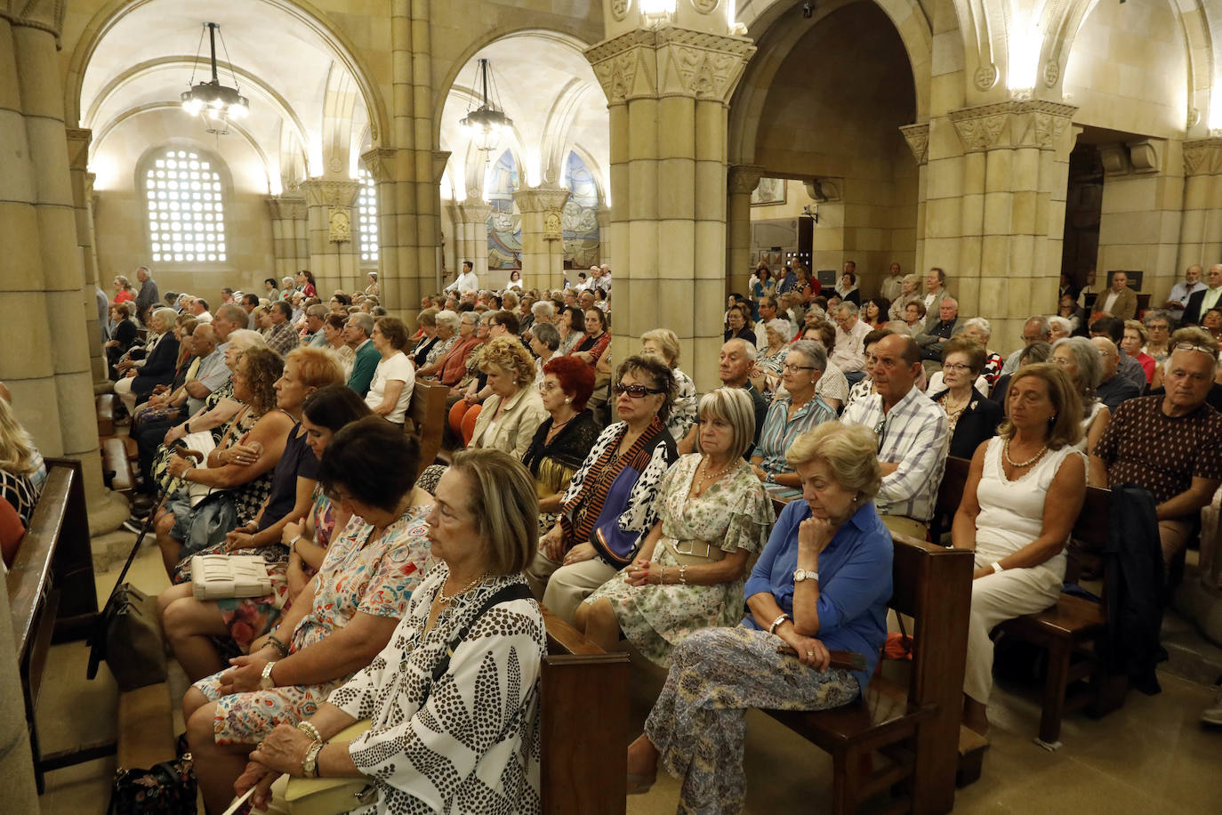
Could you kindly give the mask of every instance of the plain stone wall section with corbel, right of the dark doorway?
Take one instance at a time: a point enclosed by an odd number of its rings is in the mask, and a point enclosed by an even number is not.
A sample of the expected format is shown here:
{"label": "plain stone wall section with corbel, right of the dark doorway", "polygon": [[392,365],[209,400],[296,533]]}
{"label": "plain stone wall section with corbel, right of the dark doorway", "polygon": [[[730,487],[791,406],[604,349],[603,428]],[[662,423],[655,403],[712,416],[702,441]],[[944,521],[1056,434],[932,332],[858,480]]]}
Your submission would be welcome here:
{"label": "plain stone wall section with corbel, right of the dark doorway", "polygon": [[[1144,271],[1139,291],[1149,293],[1151,307],[1157,307],[1166,302],[1183,271],[1176,264],[1184,204],[1179,142],[1138,139],[1103,144],[1100,158],[1105,181],[1099,274]],[[1106,276],[1099,277],[1097,285],[1106,286]]]}

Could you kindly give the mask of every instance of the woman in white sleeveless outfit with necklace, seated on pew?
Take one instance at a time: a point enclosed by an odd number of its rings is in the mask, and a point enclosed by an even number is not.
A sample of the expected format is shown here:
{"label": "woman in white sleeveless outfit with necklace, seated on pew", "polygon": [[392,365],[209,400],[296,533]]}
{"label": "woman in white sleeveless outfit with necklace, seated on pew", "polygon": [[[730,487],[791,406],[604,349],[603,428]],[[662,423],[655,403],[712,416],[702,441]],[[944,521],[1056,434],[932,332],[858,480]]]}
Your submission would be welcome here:
{"label": "woman in white sleeveless outfit with necklace, seated on pew", "polygon": [[1057,601],[1064,547],[1086,496],[1078,442],[1081,402],[1051,363],[1022,368],[1006,393],[1009,417],[971,457],[951,538],[975,550],[963,723],[985,734],[992,689],[989,632]]}

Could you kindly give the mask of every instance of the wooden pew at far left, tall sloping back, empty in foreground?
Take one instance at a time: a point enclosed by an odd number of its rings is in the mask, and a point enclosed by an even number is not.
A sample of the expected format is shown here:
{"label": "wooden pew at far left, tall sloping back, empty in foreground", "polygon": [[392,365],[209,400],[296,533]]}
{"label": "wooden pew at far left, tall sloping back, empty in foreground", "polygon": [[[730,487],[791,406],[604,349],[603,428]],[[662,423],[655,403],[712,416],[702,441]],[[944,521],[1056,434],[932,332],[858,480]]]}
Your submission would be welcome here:
{"label": "wooden pew at far left, tall sloping back, empty in foreground", "polygon": [[39,794],[49,770],[114,753],[111,744],[44,755],[38,743],[34,711],[51,643],[83,639],[98,616],[81,463],[48,458],[46,469],[46,483],[7,576],[9,611]]}

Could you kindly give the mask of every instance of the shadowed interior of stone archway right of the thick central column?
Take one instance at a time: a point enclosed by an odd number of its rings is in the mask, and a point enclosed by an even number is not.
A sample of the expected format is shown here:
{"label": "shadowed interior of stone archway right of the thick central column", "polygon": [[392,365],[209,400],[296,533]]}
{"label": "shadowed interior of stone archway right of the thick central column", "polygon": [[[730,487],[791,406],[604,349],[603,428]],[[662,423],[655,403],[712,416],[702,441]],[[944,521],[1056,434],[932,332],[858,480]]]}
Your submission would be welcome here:
{"label": "shadowed interior of stone archway right of the thick central column", "polygon": [[[873,296],[891,263],[915,263],[919,174],[899,131],[920,116],[910,46],[881,4],[819,9],[810,24],[776,18],[760,33],[731,101],[731,291],[743,291],[759,253],[776,248],[777,237],[755,246],[754,236],[789,225],[792,239],[769,260],[798,249],[805,209],[819,214],[814,271],[853,260]],[[788,180],[782,202],[750,205],[760,177]]]}

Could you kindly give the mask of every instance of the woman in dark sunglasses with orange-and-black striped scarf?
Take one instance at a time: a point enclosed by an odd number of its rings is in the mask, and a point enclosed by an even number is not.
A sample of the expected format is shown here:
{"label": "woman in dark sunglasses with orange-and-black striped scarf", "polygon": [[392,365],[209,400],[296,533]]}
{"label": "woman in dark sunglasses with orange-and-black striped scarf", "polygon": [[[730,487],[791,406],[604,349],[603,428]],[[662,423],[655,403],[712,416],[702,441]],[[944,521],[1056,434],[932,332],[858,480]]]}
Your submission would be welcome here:
{"label": "woman in dark sunglasses with orange-and-black striped scarf", "polygon": [[620,422],[607,425],[573,475],[560,519],[539,541],[527,580],[558,617],[628,566],[657,523],[659,484],[678,458],[666,430],[675,374],[654,356],[628,357],[616,371]]}

